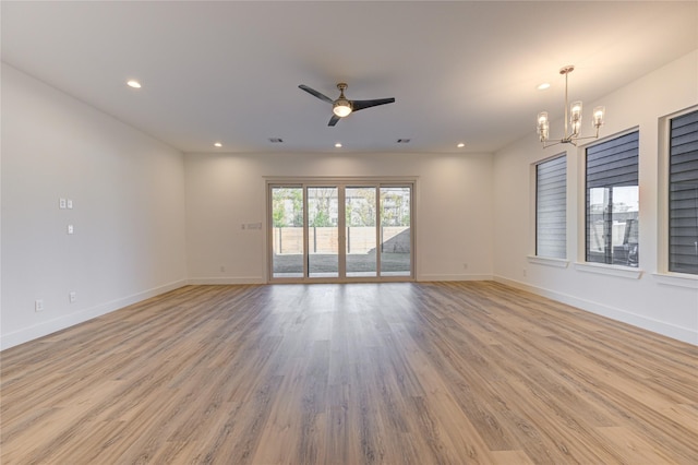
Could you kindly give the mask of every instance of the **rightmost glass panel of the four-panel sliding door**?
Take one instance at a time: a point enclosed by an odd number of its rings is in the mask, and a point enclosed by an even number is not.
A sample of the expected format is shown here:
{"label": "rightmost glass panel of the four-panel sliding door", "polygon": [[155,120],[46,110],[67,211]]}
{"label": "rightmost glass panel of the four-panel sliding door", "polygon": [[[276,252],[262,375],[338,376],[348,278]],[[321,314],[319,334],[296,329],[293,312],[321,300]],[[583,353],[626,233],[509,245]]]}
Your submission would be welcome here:
{"label": "rightmost glass panel of the four-panel sliding door", "polygon": [[411,275],[411,190],[381,188],[381,276]]}

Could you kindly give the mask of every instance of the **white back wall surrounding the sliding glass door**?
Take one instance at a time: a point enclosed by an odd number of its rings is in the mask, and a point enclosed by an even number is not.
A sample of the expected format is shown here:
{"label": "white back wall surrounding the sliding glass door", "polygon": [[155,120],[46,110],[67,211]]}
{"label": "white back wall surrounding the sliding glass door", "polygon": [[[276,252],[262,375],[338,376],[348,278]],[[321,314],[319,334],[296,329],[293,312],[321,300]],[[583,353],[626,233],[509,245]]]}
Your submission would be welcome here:
{"label": "white back wall surrounding the sliding glass door", "polygon": [[194,283],[265,282],[265,177],[282,176],[417,177],[417,278],[492,276],[491,155],[188,154],[184,164]]}

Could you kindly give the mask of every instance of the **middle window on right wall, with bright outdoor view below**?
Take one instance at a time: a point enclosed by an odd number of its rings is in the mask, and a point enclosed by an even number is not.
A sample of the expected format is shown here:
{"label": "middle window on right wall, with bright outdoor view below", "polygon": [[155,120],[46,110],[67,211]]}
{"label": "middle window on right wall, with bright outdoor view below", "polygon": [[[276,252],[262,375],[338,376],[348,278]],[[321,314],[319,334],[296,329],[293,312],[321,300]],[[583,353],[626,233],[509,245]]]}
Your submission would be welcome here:
{"label": "middle window on right wall, with bright outdoor view below", "polygon": [[587,148],[588,262],[638,265],[638,140],[635,131]]}

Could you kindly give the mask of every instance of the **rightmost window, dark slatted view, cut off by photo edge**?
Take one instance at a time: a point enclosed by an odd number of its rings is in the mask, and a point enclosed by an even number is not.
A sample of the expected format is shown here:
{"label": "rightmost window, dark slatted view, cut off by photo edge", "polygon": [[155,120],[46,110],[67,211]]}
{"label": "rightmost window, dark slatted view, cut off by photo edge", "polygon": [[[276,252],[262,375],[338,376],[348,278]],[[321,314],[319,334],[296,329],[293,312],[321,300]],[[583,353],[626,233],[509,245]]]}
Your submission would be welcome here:
{"label": "rightmost window, dark slatted view, cut off by photo edge", "polygon": [[669,271],[698,274],[698,111],[670,123]]}

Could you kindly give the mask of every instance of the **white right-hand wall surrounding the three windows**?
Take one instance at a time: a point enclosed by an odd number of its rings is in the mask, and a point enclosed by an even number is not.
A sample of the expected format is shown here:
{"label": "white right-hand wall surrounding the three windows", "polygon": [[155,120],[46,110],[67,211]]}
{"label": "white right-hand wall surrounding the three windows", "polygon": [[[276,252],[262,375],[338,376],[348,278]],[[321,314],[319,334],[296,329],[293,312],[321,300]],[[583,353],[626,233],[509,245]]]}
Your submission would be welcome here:
{"label": "white right-hand wall surrounding the three windows", "polygon": [[[698,344],[698,279],[672,278],[662,271],[658,207],[659,119],[698,104],[698,51],[639,79],[586,108],[605,105],[602,136],[638,128],[640,177],[640,270],[637,276],[589,272],[583,265],[583,150],[556,146],[542,150],[534,131],[530,138],[494,157],[494,273],[498,281],[544,294],[586,310],[631,323],[671,337]],[[562,112],[561,102],[561,112]],[[563,122],[551,123],[551,134]],[[557,128],[557,129],[555,129]],[[567,267],[530,263],[534,253],[534,201],[531,165],[567,151]],[[512,194],[516,192],[517,194]],[[527,225],[512,229],[512,225]],[[576,239],[578,238],[578,240]]]}

